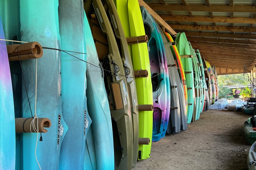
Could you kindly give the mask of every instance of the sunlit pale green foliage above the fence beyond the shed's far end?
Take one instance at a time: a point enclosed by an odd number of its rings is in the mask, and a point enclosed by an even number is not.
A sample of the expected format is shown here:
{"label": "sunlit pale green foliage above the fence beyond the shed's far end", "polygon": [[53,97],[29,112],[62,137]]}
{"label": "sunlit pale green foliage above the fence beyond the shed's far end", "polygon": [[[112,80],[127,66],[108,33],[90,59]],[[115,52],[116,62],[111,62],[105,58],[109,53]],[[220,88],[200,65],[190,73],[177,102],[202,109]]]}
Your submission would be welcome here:
{"label": "sunlit pale green foliage above the fence beyond the shed's far end", "polygon": [[230,74],[218,76],[219,86],[225,85],[248,85],[248,78],[243,77],[243,74]]}

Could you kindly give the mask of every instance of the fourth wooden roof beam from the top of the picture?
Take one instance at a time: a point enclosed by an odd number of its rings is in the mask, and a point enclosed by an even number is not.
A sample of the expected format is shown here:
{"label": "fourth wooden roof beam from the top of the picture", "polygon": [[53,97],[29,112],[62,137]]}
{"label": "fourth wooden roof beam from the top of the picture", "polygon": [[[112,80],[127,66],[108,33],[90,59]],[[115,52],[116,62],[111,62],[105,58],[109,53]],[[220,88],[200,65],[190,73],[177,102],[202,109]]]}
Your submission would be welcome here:
{"label": "fourth wooden roof beam from the top of the picture", "polygon": [[243,39],[256,39],[256,34],[240,34],[240,33],[209,33],[209,32],[195,32],[195,31],[188,31],[185,32],[186,36],[188,37],[221,37],[221,38],[243,38]]}

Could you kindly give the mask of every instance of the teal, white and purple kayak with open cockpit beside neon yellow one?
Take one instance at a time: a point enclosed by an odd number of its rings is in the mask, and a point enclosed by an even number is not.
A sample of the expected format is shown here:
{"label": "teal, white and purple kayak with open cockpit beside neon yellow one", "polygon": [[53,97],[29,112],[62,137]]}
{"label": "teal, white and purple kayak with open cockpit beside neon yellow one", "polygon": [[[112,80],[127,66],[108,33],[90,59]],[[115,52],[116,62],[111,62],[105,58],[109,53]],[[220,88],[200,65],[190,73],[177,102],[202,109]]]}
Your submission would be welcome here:
{"label": "teal, white and purple kayak with open cockpit beside neon yellow one", "polygon": [[148,35],[148,53],[154,105],[152,142],[156,142],[160,140],[161,133],[164,130],[167,111],[167,88],[165,81],[164,57],[154,19],[145,7],[140,7],[140,11],[142,14],[145,33]]}

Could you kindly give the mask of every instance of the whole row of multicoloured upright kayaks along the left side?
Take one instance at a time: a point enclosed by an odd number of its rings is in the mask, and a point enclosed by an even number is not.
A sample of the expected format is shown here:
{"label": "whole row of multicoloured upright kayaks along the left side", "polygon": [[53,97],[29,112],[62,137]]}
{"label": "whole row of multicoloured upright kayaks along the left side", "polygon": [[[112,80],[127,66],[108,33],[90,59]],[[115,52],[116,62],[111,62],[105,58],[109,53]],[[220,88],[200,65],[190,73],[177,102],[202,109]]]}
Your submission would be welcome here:
{"label": "whole row of multicoloured upright kayaks along the left side", "polygon": [[[218,99],[215,67],[137,0],[12,1],[0,2],[0,169],[132,169]],[[21,45],[9,62],[20,41],[43,56],[19,60]],[[47,132],[30,133],[40,118]]]}

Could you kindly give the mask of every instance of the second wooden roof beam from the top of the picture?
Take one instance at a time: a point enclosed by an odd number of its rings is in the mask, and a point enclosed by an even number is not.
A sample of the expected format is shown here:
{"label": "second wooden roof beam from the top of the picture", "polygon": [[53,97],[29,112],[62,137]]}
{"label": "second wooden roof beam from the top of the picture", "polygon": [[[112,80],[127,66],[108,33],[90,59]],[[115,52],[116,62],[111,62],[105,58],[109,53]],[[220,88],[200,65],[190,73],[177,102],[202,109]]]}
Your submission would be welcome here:
{"label": "second wooden roof beam from the top of the picture", "polygon": [[[256,8],[255,8],[256,9]],[[174,11],[174,10],[172,10]],[[256,18],[249,17],[213,17],[208,16],[194,16],[189,17],[185,15],[176,15],[172,17],[170,15],[159,15],[164,21],[186,21],[186,22],[219,22],[219,23],[244,23],[244,24],[256,24]]]}

